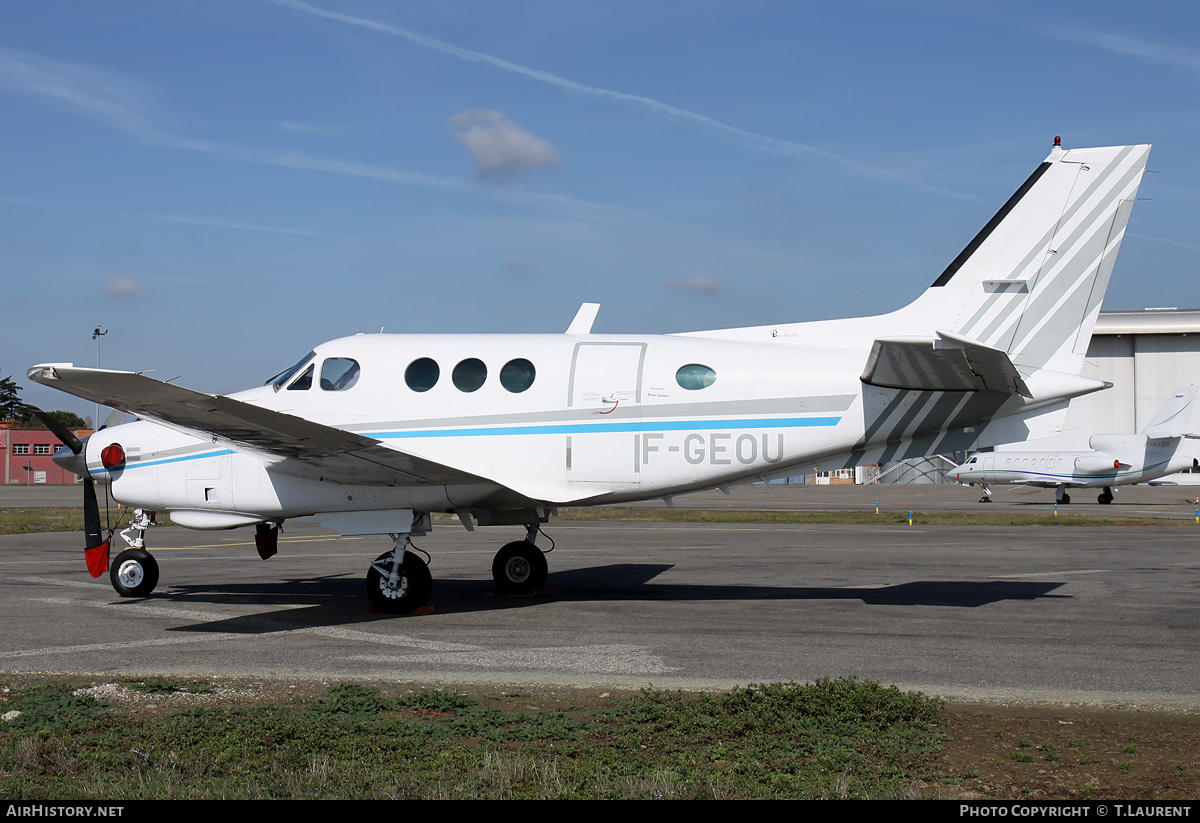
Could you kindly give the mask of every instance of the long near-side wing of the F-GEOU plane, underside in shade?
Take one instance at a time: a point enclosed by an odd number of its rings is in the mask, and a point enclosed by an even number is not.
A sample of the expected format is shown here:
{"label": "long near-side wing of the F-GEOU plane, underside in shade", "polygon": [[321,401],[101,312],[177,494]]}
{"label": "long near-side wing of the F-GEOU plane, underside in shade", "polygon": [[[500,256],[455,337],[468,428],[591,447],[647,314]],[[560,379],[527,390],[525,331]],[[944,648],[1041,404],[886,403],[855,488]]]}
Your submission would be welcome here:
{"label": "long near-side wing of the F-GEOU plane, underside in shade", "polygon": [[[205,395],[133,372],[46,364],[29,379],[190,434],[211,437],[265,456],[272,471],[316,480],[382,486],[506,483],[418,457],[378,440],[230,397]],[[559,500],[557,486],[512,489],[522,498]],[[590,495],[590,494],[589,494]],[[577,498],[577,493],[576,493]],[[581,499],[581,498],[577,498]]]}

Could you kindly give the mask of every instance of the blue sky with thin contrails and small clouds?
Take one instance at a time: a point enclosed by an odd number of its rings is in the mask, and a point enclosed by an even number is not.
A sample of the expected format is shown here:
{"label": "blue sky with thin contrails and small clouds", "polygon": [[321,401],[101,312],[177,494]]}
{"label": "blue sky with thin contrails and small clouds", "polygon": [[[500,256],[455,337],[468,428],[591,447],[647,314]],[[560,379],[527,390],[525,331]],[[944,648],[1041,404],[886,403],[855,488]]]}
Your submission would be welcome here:
{"label": "blue sky with thin contrails and small clouds", "polygon": [[[1106,308],[1200,306],[1190,2],[11,0],[0,374],[358,331],[874,314],[1048,154],[1153,143]],[[88,404],[26,385],[49,408]]]}

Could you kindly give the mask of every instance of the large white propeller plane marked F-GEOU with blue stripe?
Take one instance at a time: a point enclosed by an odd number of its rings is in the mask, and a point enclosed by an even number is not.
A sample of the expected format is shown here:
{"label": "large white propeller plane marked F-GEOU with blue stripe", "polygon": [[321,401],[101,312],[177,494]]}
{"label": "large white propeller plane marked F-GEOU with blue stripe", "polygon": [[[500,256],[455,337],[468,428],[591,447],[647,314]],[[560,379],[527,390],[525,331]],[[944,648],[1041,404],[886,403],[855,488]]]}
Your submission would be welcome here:
{"label": "large white propeller plane marked F-GEOU with blue stripe", "polygon": [[[30,379],[134,414],[67,443],[85,479],[92,573],[149,594],[155,511],[196,529],[312,517],[389,534],[367,571],[385,612],[432,584],[409,536],[430,512],[468,529],[523,525],[496,555],[502,591],[546,577],[535,545],[557,506],[695,489],[1044,437],[1079,376],[1148,145],[1055,146],[934,284],[878,317],[594,335],[358,335],[318,346],[266,385],[212,396],[132,372],[43,364]],[[92,479],[136,509],[109,567]],[[109,531],[109,536],[112,531]]]}

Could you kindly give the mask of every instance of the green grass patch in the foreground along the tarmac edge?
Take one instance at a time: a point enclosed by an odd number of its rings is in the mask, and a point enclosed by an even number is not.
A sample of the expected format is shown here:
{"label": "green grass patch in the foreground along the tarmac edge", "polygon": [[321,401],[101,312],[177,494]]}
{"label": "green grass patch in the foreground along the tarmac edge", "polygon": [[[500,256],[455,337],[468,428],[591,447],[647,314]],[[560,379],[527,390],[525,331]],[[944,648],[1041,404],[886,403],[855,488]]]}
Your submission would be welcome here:
{"label": "green grass patch in the foreground along the tarmac edge", "polygon": [[853,679],[511,708],[343,684],[305,705],[124,713],[10,696],[0,798],[900,798],[935,779],[942,705]]}

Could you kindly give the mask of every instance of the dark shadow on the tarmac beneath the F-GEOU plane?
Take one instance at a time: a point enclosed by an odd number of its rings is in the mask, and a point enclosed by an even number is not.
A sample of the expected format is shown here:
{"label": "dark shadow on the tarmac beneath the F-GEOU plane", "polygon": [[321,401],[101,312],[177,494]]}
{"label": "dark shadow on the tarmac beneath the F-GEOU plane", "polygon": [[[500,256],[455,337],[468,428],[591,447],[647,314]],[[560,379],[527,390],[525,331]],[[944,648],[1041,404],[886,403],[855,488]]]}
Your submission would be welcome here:
{"label": "dark shadow on the tarmac beneath the F-GEOU plane", "polygon": [[[565,570],[551,573],[546,588],[529,596],[492,596],[491,581],[436,579],[431,605],[438,614],[527,608],[551,602],[620,601],[858,600],[868,606],[977,608],[1007,600],[1069,596],[1051,594],[1064,583],[1030,581],[913,581],[896,585],[862,588],[653,582],[670,569],[672,566],[668,564],[622,563]],[[155,595],[155,599],[170,600],[180,605],[208,601],[268,607],[258,614],[197,623],[172,631],[266,633],[404,617],[380,615],[368,609],[361,579],[348,576],[266,584],[174,585]],[[287,603],[288,608],[270,608],[271,603]]]}

